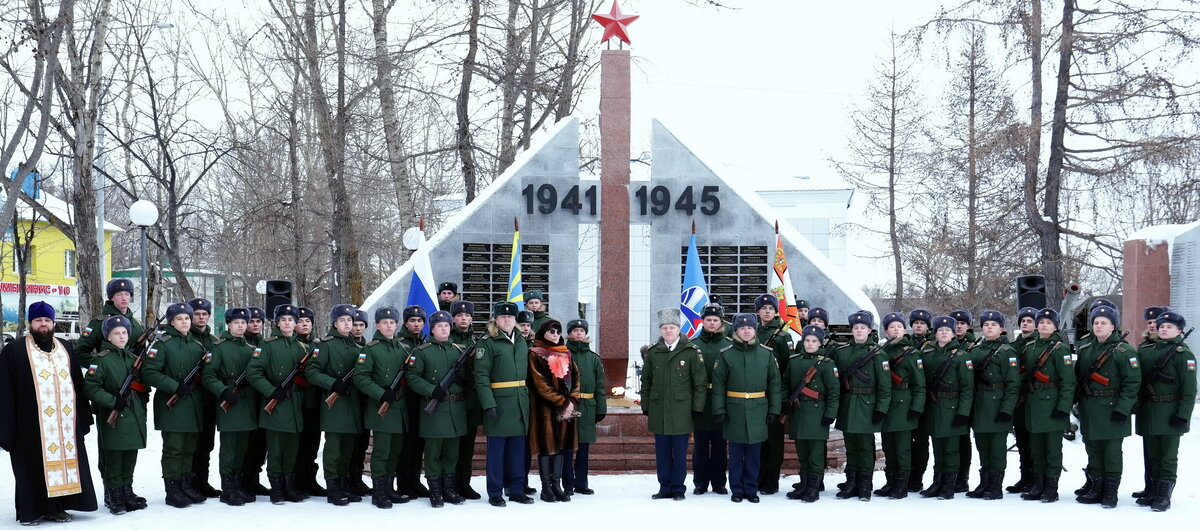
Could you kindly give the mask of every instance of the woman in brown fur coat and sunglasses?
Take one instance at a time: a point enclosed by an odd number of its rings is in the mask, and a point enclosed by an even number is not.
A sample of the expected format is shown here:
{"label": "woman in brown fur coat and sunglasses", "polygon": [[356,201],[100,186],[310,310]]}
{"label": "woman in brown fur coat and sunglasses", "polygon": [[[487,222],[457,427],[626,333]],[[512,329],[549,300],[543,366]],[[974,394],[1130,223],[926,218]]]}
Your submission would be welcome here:
{"label": "woman in brown fur coat and sunglasses", "polygon": [[541,500],[566,502],[565,451],[578,446],[580,368],[563,341],[563,325],[546,320],[529,349],[529,450],[538,456]]}

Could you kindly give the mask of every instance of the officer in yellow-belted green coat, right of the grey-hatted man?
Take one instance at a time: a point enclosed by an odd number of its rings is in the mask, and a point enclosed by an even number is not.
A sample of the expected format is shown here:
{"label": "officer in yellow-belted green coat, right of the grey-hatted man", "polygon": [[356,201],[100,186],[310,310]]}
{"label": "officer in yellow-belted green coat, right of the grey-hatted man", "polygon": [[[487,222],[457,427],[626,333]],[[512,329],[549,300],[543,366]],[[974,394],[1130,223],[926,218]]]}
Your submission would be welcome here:
{"label": "officer in yellow-belted green coat, right of the grey-hatted man", "polygon": [[782,424],[779,363],[774,351],[758,343],[757,319],[733,318],[733,345],[713,368],[713,420],[730,441],[730,489],[733,502],[758,502],[758,469],[767,426]]}

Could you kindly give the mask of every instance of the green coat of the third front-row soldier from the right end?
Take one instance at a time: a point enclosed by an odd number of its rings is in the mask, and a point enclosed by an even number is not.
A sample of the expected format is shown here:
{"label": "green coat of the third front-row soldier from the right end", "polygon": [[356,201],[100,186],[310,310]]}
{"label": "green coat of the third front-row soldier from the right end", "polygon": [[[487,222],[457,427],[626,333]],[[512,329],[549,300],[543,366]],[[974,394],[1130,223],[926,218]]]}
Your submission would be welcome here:
{"label": "green coat of the third front-row soldier from the right end", "polygon": [[[1042,372],[1050,379],[1043,384],[1034,378],[1034,367],[1038,356],[1051,344],[1057,342]],[[1021,392],[1025,393],[1025,426],[1031,433],[1063,432],[1069,426],[1069,415],[1062,420],[1050,417],[1055,410],[1062,412],[1070,411],[1070,404],[1075,400],[1075,361],[1070,355],[1070,349],[1062,341],[1062,333],[1056,331],[1049,338],[1037,338],[1025,345],[1021,355],[1025,357],[1025,374],[1021,379]],[[1028,381],[1036,381],[1034,390],[1030,391]]]}

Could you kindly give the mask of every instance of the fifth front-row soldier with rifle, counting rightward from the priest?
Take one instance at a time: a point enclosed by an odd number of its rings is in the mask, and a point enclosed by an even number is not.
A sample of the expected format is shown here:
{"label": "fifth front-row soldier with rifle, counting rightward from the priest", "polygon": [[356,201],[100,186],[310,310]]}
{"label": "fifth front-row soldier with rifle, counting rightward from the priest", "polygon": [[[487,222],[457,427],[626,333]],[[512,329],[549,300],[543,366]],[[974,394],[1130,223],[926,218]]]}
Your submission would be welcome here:
{"label": "fifth front-row soldier with rifle, counting rightward from the priest", "polygon": [[[319,389],[318,397],[323,402],[320,430],[325,433],[325,448],[322,451],[325,501],[335,506],[362,500],[347,487],[354,444],[362,432],[362,396],[352,380],[361,350],[352,333],[355,311],[349,303],[330,309],[329,333],[313,341],[312,360],[305,367],[305,379]],[[332,406],[329,399],[336,399]]]}

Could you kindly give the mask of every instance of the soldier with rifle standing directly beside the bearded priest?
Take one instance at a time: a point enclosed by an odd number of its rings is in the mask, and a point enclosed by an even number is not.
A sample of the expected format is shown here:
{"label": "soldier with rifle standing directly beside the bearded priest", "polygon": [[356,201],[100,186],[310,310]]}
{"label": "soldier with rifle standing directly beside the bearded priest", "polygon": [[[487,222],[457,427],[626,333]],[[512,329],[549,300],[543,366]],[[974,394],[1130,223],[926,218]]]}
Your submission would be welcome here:
{"label": "soldier with rifle standing directly beside the bearded priest", "polygon": [[[100,332],[106,337],[100,351],[84,374],[84,393],[100,420],[100,474],[104,480],[104,505],[114,514],[146,507],[145,499],[133,494],[133,468],[138,450],[146,446],[146,398],[143,391],[131,391],[121,398],[121,385],[134,371],[136,356],[126,348],[130,319],[113,315],[104,319]],[[138,384],[140,386],[140,383]],[[143,387],[144,389],[144,387]],[[116,424],[109,414],[116,411]]]}

